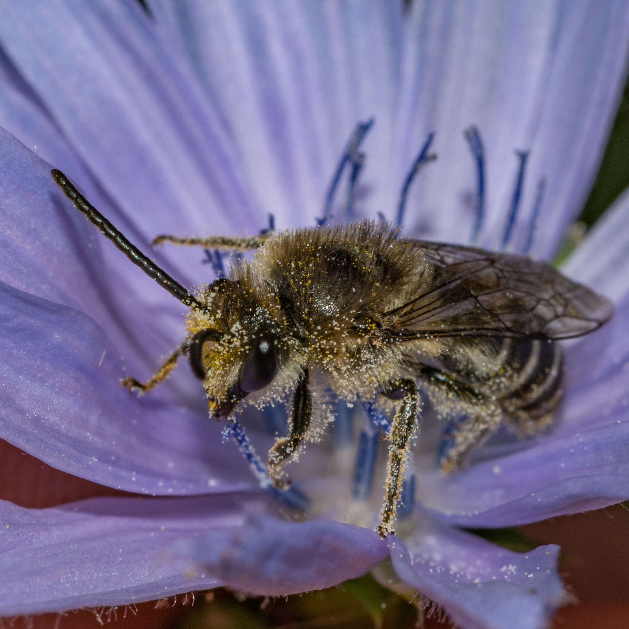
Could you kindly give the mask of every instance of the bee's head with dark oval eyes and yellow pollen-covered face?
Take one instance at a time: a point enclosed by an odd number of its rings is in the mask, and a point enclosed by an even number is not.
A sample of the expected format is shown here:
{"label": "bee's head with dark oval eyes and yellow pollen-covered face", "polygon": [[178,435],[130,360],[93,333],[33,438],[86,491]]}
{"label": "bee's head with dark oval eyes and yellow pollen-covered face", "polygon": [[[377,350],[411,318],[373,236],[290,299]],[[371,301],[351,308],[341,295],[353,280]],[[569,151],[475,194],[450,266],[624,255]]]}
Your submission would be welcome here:
{"label": "bee's head with dark oval eyes and yellow pollen-covered face", "polygon": [[277,374],[277,330],[269,313],[241,282],[210,284],[187,317],[188,360],[204,381],[211,412],[228,416],[248,394],[261,391]]}

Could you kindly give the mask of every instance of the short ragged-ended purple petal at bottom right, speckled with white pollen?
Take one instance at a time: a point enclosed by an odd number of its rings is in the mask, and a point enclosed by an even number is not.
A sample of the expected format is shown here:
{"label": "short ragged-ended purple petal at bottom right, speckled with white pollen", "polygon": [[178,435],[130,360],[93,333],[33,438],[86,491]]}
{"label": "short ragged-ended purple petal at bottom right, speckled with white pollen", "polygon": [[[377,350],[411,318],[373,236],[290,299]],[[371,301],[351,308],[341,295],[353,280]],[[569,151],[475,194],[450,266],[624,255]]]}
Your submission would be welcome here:
{"label": "short ragged-ended purple petal at bottom right, speckled with white pollen", "polygon": [[419,526],[389,542],[393,567],[409,586],[443,606],[465,629],[542,629],[564,590],[559,547],[527,554],[499,548],[447,526]]}

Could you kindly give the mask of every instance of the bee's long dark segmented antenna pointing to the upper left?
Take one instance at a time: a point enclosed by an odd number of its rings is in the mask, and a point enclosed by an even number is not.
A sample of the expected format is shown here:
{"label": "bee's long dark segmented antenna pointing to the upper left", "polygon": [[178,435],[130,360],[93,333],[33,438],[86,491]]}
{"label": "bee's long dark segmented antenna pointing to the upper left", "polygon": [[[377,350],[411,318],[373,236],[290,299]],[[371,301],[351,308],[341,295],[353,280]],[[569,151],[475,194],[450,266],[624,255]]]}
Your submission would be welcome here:
{"label": "bee's long dark segmented antenna pointing to the upper left", "polygon": [[198,301],[198,299],[194,298],[179,282],[176,282],[169,274],[160,269],[157,264],[149,260],[135,245],[132,245],[120,231],[111,225],[103,214],[82,196],[60,170],[52,169],[50,174],[57,186],[62,189],[65,196],[72,201],[74,207],[84,213],[90,223],[96,225],[97,228],[101,230],[103,236],[109,238],[133,264],[140,267],[148,277],[152,277],[162,288],[165,288],[171,295],[186,304],[186,306],[204,309],[203,304]]}

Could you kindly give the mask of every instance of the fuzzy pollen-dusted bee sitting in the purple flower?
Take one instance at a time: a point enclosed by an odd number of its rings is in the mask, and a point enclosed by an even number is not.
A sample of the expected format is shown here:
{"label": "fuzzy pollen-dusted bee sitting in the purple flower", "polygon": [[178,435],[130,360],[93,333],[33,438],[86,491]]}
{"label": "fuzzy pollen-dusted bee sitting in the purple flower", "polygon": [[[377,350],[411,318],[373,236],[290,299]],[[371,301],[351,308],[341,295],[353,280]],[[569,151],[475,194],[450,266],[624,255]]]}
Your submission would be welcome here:
{"label": "fuzzy pollen-dusted bee sitting in the purple flower", "polygon": [[269,452],[276,487],[287,486],[284,467],[330,421],[318,389],[331,389],[348,403],[378,396],[393,401],[376,528],[382,538],[394,532],[421,396],[443,418],[464,418],[442,457],[445,472],[459,468],[502,423],[522,437],[535,435],[552,425],[562,397],[557,341],[596,330],[613,310],[545,262],[411,240],[370,221],[250,238],[155,238],[153,245],[255,250],[250,260],[234,260],[228,277],[192,294],[134,247],[62,172],[52,170],[52,176],[131,262],[189,307],[182,345],[150,380],[126,377],[126,387],[150,391],[186,355],[218,420],[238,405],[292,395],[288,434],[277,437]]}

